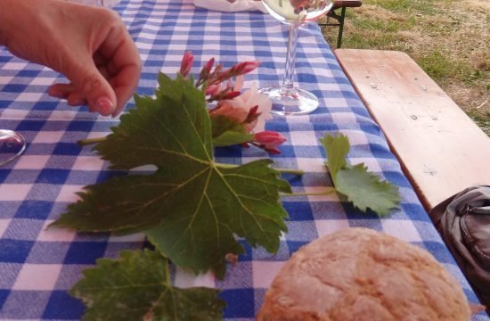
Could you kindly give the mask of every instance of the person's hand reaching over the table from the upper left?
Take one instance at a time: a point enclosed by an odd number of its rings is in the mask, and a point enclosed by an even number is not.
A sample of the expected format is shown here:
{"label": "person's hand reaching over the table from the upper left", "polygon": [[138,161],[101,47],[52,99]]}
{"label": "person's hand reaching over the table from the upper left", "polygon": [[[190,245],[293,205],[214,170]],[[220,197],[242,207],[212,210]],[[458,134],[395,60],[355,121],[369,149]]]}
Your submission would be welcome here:
{"label": "person's hand reaching over the table from the upper left", "polygon": [[[6,10],[8,8],[9,10]],[[113,117],[141,70],[135,43],[116,12],[59,0],[2,0],[0,45],[69,78],[48,94]]]}

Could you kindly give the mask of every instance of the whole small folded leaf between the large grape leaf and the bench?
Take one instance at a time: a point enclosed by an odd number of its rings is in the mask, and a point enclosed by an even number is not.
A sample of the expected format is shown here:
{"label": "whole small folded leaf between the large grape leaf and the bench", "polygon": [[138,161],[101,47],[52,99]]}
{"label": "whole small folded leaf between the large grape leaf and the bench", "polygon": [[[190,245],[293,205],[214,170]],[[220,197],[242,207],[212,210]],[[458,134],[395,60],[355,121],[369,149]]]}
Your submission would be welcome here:
{"label": "whole small folded leaf between the large grape leaf and the bench", "polygon": [[327,154],[328,161],[325,164],[331,172],[335,189],[356,208],[364,212],[369,208],[383,216],[398,206],[401,199],[395,185],[381,181],[363,163],[355,166],[347,164],[347,153],[350,150],[347,136],[325,134],[320,141]]}

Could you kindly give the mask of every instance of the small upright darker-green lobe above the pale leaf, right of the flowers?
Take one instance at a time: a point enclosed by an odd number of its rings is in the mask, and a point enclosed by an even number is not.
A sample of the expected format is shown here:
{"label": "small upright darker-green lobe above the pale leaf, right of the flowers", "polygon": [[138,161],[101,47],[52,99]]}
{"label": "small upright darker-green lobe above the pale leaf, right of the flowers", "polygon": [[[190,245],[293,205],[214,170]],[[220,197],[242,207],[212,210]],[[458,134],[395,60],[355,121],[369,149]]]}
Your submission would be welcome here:
{"label": "small upright darker-green lobe above the pale leaf, right of the flowers", "polygon": [[329,168],[333,183],[336,184],[337,172],[347,165],[346,158],[350,150],[348,138],[342,134],[337,136],[326,134],[323,138],[320,138],[320,142],[323,144],[327,154],[325,165]]}

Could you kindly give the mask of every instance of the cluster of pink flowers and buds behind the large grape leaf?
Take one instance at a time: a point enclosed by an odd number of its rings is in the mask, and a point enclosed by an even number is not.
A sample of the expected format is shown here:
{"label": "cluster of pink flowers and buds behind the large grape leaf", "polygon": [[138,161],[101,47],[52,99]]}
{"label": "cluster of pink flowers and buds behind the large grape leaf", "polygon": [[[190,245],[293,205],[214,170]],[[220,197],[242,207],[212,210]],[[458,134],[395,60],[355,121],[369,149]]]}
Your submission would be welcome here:
{"label": "cluster of pink flowers and buds behind the large grape leaf", "polygon": [[[194,57],[184,53],[179,74],[188,78]],[[213,125],[215,145],[250,144],[267,152],[279,153],[278,146],[286,141],[281,134],[265,130],[265,120],[271,119],[272,103],[258,92],[255,83],[242,93],[243,75],[257,69],[258,62],[240,62],[225,70],[210,59],[200,70],[194,86],[206,95]]]}

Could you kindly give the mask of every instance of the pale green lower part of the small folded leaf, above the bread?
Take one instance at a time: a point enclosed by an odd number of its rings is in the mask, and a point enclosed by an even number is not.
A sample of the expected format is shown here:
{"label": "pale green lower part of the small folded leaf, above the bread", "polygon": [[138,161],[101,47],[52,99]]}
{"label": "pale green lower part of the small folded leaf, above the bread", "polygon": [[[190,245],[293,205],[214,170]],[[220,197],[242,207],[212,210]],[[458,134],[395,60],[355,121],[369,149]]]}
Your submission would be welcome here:
{"label": "pale green lower part of the small folded leaf, above the bread", "polygon": [[346,195],[348,201],[364,212],[370,208],[383,216],[400,203],[398,188],[368,172],[362,163],[340,169],[336,184],[337,191]]}

